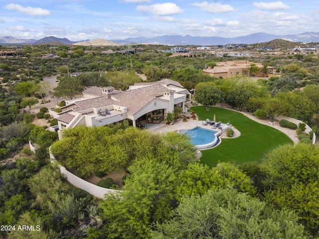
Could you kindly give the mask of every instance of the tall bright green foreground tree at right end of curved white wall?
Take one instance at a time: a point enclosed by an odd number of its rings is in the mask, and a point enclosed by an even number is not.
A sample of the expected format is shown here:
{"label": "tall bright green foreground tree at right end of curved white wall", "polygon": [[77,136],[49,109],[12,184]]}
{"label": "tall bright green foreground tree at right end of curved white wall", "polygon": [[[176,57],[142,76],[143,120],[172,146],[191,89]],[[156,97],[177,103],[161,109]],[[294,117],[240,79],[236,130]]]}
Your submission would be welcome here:
{"label": "tall bright green foreground tree at right end of curved white wall", "polygon": [[108,238],[147,239],[153,222],[169,218],[178,180],[173,168],[152,158],[136,161],[129,171],[125,191],[101,203]]}

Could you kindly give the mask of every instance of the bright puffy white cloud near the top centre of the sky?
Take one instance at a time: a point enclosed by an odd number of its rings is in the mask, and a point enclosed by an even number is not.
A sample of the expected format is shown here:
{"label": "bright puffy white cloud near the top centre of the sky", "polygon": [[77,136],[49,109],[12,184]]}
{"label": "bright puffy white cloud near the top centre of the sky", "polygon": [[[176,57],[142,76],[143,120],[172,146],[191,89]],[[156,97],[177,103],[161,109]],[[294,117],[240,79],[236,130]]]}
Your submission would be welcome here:
{"label": "bright puffy white cloud near the top centre of the sky", "polygon": [[153,15],[174,15],[184,12],[179,6],[171,2],[139,5],[136,7],[136,10],[150,12]]}

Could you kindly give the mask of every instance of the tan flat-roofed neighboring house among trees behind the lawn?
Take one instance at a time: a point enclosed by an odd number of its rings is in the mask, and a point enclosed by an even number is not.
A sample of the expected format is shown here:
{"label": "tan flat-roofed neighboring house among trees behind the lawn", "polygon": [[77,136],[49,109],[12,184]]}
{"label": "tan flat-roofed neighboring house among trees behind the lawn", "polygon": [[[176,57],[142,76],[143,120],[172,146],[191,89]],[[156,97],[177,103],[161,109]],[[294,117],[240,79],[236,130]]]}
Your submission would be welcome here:
{"label": "tan flat-roofed neighboring house among trees behind the lawn", "polygon": [[[242,61],[225,61],[225,62],[216,62],[216,66],[213,69],[204,69],[203,74],[208,76],[213,76],[216,78],[226,78],[237,75],[248,75],[248,68],[250,64],[253,62],[249,62],[248,60]],[[274,73],[274,67],[268,66],[268,72],[263,72],[263,64],[254,63],[257,67],[259,67],[259,72],[254,73],[253,75],[256,77],[268,77],[269,74]]]}

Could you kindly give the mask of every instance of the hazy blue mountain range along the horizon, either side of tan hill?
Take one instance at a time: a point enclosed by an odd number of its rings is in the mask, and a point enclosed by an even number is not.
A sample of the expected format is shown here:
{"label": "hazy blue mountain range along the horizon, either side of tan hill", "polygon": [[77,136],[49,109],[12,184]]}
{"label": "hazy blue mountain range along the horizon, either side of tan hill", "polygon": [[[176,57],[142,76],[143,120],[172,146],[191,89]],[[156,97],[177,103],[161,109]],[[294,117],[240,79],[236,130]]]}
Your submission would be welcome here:
{"label": "hazy blue mountain range along the horizon, either side of tan hill", "polygon": [[[201,36],[180,36],[180,35],[164,35],[158,37],[129,37],[124,40],[111,40],[118,44],[163,44],[163,45],[225,45],[225,44],[254,44],[267,42],[274,39],[284,39],[292,42],[319,42],[319,32],[304,32],[297,35],[273,35],[263,32],[253,33],[239,37],[201,37]],[[85,40],[89,41],[89,40]],[[44,37],[42,39],[17,39],[12,36],[0,37],[0,44],[45,44],[49,42],[60,42],[62,44],[74,44],[83,41],[70,41],[67,38],[58,38],[54,36]]]}

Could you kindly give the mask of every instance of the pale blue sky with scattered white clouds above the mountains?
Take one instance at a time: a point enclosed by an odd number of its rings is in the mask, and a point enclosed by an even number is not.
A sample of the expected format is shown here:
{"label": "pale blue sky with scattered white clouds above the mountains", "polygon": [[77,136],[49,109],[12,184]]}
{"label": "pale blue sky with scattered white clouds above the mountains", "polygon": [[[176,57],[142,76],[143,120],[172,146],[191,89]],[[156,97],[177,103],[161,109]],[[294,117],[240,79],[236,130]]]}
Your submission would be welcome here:
{"label": "pale blue sky with scattered white clouds above the mountains", "polygon": [[319,0],[0,0],[0,37],[126,39],[319,32]]}

